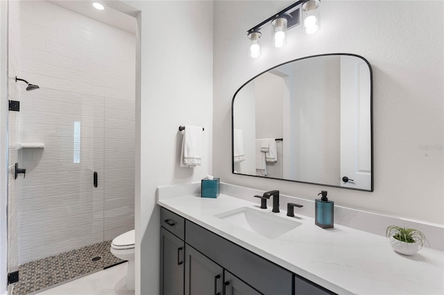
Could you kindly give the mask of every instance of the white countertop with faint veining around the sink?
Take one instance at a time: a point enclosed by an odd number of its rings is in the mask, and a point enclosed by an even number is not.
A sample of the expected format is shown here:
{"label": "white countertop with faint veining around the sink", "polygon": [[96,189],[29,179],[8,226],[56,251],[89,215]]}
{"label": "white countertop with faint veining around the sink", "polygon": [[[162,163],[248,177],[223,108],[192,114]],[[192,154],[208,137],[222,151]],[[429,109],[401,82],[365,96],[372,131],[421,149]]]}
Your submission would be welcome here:
{"label": "white countertop with faint veining around the sink", "polygon": [[[337,294],[444,294],[444,252],[422,248],[402,256],[382,236],[346,226],[321,229],[314,219],[286,211],[272,213],[253,202],[219,195],[160,199],[160,206],[203,226],[223,238],[262,256]],[[298,226],[274,240],[214,217],[241,207],[296,220]],[[282,208],[282,204],[281,204]]]}

